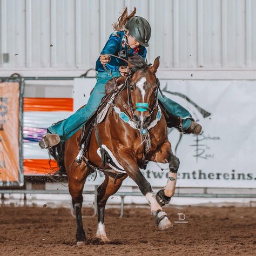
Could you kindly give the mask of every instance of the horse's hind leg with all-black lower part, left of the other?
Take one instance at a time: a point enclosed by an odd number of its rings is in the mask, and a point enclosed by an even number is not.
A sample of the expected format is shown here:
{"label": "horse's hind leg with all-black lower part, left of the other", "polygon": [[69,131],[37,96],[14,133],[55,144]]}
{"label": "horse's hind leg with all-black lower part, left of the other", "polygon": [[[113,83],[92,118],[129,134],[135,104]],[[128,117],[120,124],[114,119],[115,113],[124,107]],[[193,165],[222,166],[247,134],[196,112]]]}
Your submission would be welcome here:
{"label": "horse's hind leg with all-black lower part, left of the other", "polygon": [[87,243],[85,236],[83,222],[82,222],[82,204],[83,204],[83,188],[87,176],[92,172],[90,167],[86,167],[84,163],[77,165],[72,164],[72,167],[68,171],[69,176],[69,192],[72,197],[72,205],[76,214],[77,221],[77,245]]}

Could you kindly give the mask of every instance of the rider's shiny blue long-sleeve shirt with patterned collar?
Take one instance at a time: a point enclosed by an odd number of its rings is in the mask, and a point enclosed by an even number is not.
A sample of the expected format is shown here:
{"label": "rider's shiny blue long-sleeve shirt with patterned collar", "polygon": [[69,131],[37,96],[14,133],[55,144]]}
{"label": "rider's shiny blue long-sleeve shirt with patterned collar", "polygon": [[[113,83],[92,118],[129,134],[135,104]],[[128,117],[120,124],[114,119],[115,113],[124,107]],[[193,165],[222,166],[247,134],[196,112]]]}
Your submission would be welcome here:
{"label": "rider's shiny blue long-sleeve shirt with patterned collar", "polygon": [[[128,49],[125,44],[124,31],[113,32],[109,40],[106,42],[101,55],[105,54],[113,54],[118,57],[122,57],[128,60],[128,57],[133,56],[134,54],[138,54],[142,56],[144,59],[146,58],[147,50],[145,46],[139,45],[136,49]],[[106,63],[106,68],[112,71],[119,71],[120,66],[126,66],[127,63],[122,59],[115,58],[111,56],[110,62]],[[96,61],[96,71],[103,72],[105,71],[103,65],[100,63],[99,58]]]}

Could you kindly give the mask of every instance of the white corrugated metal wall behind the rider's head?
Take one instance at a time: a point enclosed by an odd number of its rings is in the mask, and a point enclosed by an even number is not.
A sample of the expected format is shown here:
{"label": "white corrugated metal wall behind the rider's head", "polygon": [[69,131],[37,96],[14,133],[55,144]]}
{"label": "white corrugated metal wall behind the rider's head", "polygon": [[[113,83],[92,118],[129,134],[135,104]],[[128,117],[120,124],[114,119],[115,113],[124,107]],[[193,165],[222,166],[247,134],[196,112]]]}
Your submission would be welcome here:
{"label": "white corrugated metal wall behind the rider's head", "polygon": [[94,68],[124,6],[136,6],[151,23],[147,58],[160,56],[163,70],[256,68],[254,0],[0,0],[0,6],[2,70]]}

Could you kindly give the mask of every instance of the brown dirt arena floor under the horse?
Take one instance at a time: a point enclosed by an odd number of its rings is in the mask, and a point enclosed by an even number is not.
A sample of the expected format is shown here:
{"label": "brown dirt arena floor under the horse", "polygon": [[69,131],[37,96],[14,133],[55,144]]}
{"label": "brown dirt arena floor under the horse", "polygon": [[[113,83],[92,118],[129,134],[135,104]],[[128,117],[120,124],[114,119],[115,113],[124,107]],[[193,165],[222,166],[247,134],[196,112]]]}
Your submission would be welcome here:
{"label": "brown dirt arena floor under the horse", "polygon": [[[83,210],[86,214],[91,209]],[[1,207],[0,255],[256,255],[256,208],[166,208],[173,227],[158,231],[147,208],[106,210],[102,244],[96,217],[84,218],[90,244],[76,246],[76,221],[66,208]],[[178,213],[188,223],[175,224]]]}

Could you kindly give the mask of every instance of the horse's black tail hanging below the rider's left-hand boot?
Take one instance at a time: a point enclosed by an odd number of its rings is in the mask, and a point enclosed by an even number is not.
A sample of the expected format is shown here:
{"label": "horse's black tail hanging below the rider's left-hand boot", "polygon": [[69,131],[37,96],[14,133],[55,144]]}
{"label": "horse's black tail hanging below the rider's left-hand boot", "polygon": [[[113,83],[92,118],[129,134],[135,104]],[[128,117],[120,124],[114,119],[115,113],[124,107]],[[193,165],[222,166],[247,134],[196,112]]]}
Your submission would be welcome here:
{"label": "horse's black tail hanging below the rider's left-hand boot", "polygon": [[[64,164],[64,154],[65,154],[65,142],[60,142],[56,146],[52,146],[48,149],[50,156],[52,156],[58,164],[59,174],[66,174],[65,164]],[[50,159],[51,161],[51,159]]]}

